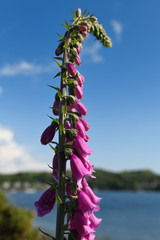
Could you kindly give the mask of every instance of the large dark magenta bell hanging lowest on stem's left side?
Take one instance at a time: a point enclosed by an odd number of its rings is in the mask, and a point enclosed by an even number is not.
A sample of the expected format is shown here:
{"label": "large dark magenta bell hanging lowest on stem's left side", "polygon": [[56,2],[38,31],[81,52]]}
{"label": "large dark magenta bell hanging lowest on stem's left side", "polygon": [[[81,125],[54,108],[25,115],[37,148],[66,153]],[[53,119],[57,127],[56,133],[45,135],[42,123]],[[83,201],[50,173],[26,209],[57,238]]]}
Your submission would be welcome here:
{"label": "large dark magenta bell hanging lowest on stem's left side", "polygon": [[40,199],[34,203],[37,208],[37,215],[43,217],[44,215],[50,213],[54,207],[56,201],[56,193],[50,188],[47,189]]}

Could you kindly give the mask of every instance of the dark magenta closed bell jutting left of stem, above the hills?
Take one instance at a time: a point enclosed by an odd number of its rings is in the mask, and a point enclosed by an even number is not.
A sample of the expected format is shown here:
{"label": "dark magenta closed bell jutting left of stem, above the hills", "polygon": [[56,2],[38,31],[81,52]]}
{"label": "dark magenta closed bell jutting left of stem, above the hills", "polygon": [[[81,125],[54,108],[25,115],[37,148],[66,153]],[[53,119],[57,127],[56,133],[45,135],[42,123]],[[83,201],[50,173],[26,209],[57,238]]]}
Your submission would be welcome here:
{"label": "dark magenta closed bell jutting left of stem, above the hills", "polygon": [[52,125],[50,125],[44,130],[44,132],[41,135],[41,143],[43,145],[46,145],[52,141],[55,135],[55,130],[56,130],[55,127]]}

